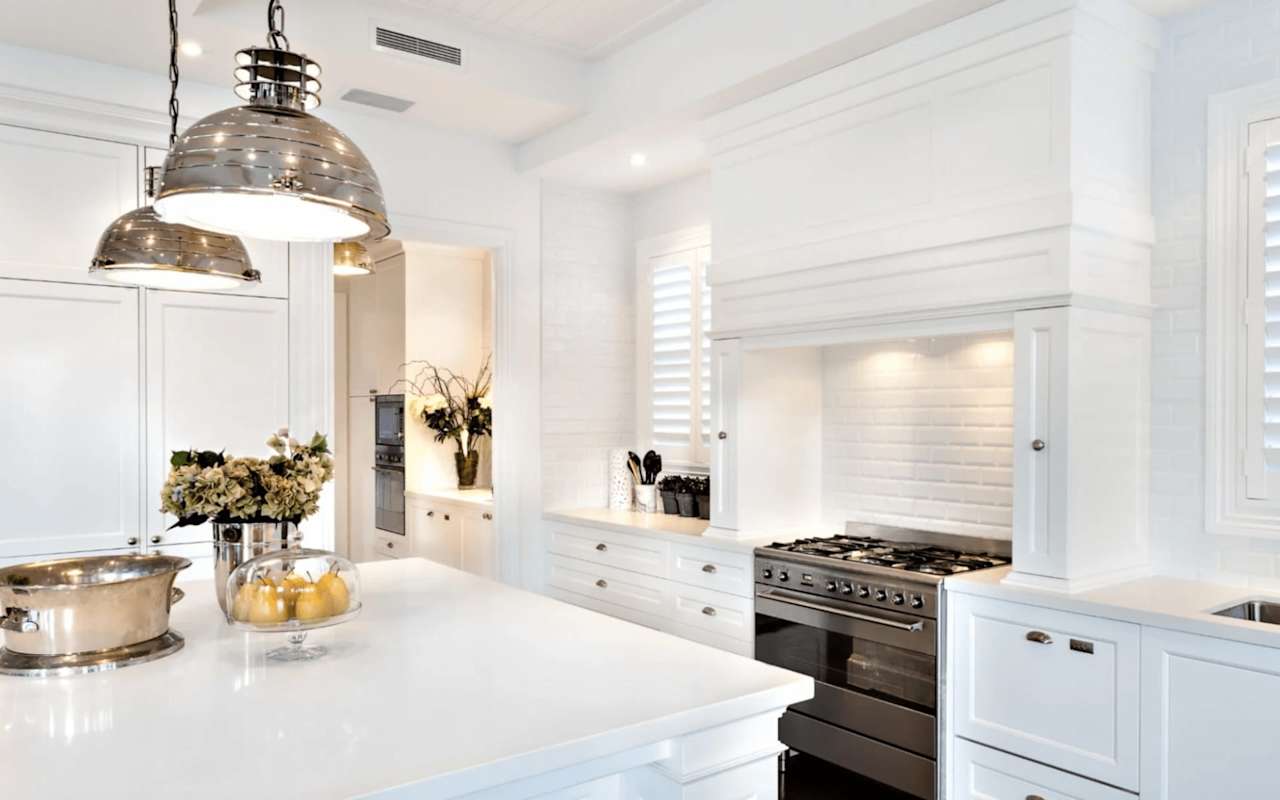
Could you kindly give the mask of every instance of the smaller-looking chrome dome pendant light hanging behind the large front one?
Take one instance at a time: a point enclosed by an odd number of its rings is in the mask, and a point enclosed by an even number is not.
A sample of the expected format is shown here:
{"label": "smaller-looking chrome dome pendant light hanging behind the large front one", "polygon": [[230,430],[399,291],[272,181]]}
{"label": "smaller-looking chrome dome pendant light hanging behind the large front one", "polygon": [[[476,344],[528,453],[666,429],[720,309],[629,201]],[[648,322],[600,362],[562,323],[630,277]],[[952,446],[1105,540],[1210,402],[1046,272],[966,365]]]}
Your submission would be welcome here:
{"label": "smaller-looking chrome dome pendant light hanging behind the large front one", "polygon": [[[178,9],[169,0],[169,147],[178,138]],[[156,169],[147,168],[147,198]],[[234,236],[161,220],[155,209],[134,209],[111,223],[97,242],[91,273],[116,283],[155,289],[234,289],[261,280]]]}

